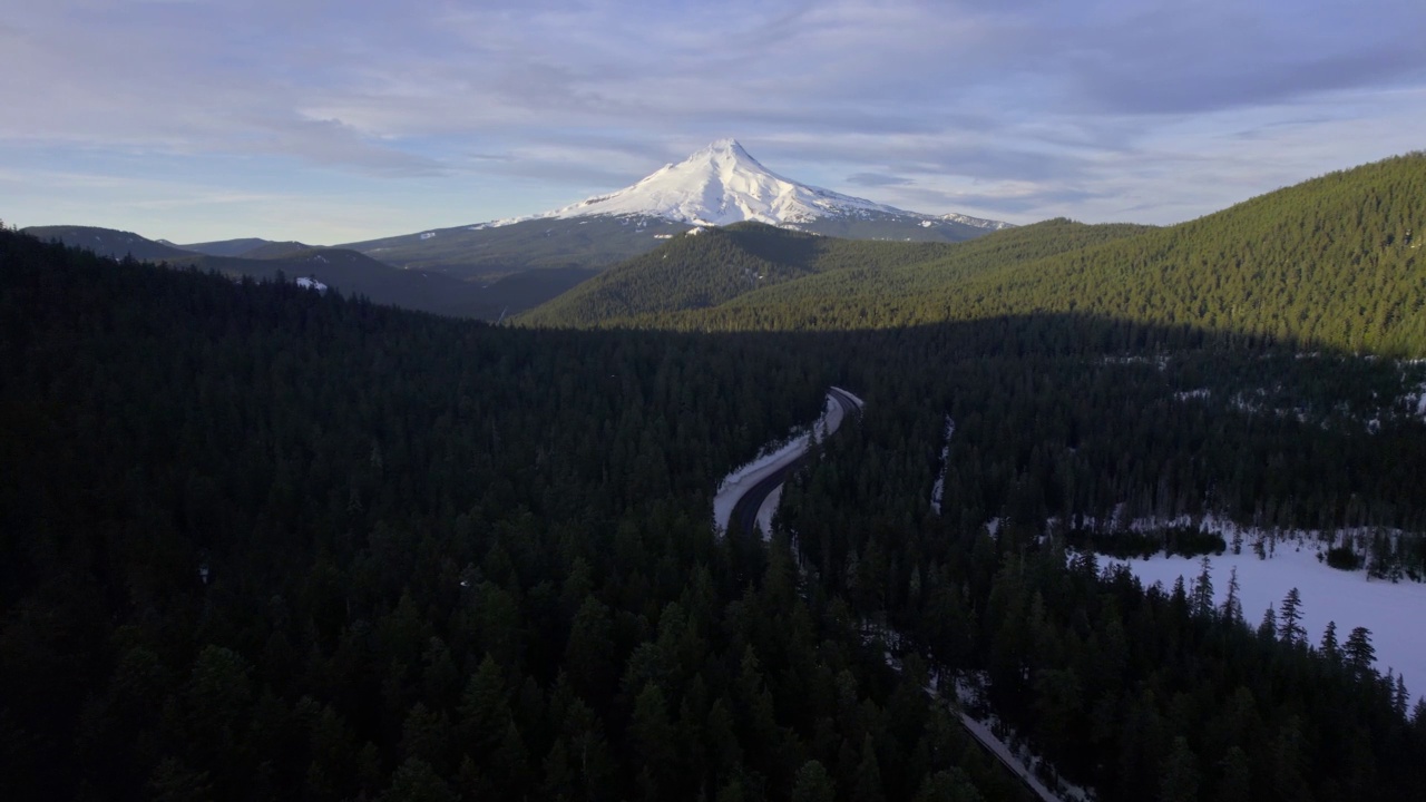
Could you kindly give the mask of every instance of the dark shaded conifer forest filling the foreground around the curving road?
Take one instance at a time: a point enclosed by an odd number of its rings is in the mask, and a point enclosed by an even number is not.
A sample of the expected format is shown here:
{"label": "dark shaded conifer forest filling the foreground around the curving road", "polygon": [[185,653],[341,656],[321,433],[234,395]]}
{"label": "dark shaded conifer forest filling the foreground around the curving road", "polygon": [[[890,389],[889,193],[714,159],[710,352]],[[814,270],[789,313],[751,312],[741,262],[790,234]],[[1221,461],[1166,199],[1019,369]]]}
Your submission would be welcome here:
{"label": "dark shaded conifer forest filling the foreground around the curving road", "polygon": [[[17,798],[1024,798],[933,674],[1104,801],[1426,798],[1369,634],[1065,551],[1119,505],[1420,532],[1422,365],[1082,311],[512,330],[6,233],[0,371]],[[864,415],[716,537],[829,384]]]}

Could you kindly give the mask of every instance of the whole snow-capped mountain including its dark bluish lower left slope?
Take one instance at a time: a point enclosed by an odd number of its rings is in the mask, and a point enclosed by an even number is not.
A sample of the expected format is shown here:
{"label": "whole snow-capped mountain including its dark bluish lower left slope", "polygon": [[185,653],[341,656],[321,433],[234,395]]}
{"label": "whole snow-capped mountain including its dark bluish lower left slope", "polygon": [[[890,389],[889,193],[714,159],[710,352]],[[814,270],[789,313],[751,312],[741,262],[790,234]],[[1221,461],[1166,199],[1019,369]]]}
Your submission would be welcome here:
{"label": "whole snow-capped mountain including its dark bluish lower left slope", "polygon": [[719,140],[630,187],[553,211],[338,247],[402,270],[443,273],[492,291],[518,285],[525,297],[553,298],[684,231],[743,221],[848,240],[923,243],[958,243],[1010,225],[809,187],[763,167],[736,141]]}

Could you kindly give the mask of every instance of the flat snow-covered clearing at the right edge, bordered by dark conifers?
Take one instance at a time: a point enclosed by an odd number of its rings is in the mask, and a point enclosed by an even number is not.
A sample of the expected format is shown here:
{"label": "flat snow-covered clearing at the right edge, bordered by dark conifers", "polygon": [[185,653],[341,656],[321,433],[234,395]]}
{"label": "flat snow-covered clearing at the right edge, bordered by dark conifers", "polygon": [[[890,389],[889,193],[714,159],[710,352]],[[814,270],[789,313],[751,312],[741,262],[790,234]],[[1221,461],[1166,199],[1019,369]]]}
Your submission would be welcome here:
{"label": "flat snow-covered clearing at the right edge, bordered by dark conifers", "polygon": [[[1252,545],[1242,554],[1232,549],[1221,557],[1209,555],[1214,597],[1219,605],[1228,597],[1229,572],[1238,569],[1238,598],[1243,618],[1251,625],[1262,621],[1268,605],[1281,609],[1288,591],[1302,594],[1302,626],[1308,641],[1316,646],[1328,621],[1336,622],[1338,641],[1345,642],[1355,626],[1372,631],[1376,646],[1376,668],[1382,674],[1390,668],[1406,676],[1406,685],[1420,695],[1426,688],[1426,584],[1368,579],[1365,571],[1339,571],[1318,561],[1319,547],[1312,541],[1278,541],[1273,555],[1261,559]],[[1192,588],[1199,574],[1199,558],[1156,555],[1148,559],[1114,559],[1128,565],[1145,585],[1162,582],[1165,589],[1184,578]]]}

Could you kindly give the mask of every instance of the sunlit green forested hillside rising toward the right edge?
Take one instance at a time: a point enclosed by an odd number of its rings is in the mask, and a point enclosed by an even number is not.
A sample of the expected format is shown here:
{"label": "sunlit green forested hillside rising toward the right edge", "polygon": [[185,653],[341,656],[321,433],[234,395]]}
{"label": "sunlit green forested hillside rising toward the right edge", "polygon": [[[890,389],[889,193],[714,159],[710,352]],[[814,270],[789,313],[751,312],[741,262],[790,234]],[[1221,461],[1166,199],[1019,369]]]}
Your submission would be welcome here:
{"label": "sunlit green forested hillside rising toward the right edge", "polygon": [[[610,305],[597,323],[847,330],[1082,313],[1352,351],[1426,354],[1423,198],[1426,156],[1409,154],[1168,228],[1051,221],[958,245],[960,257],[938,263],[826,271],[703,310],[630,314]],[[1079,240],[1062,253],[1035,250],[1055,234]],[[589,320],[570,314],[562,323]]]}

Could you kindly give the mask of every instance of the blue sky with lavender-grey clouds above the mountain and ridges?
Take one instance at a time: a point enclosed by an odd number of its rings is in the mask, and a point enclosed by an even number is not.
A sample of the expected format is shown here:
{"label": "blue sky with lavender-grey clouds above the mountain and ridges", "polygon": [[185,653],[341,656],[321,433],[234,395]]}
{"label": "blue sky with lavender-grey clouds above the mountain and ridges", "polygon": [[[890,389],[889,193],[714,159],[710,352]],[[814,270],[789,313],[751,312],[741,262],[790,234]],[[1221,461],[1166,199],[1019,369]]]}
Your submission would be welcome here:
{"label": "blue sky with lavender-grey clouds above the mountain and ridges", "polygon": [[923,213],[1171,224],[1426,148],[1420,0],[10,0],[0,220],[337,244],[733,137]]}

